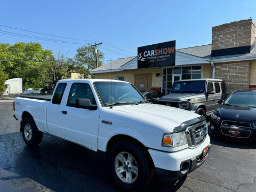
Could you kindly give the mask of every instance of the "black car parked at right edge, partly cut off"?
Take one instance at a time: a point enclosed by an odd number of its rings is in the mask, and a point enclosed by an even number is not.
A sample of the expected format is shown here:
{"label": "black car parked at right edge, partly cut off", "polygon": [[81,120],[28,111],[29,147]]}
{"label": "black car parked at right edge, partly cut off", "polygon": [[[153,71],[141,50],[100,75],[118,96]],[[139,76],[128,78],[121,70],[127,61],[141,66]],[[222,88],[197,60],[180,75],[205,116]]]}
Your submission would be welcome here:
{"label": "black car parked at right edge, partly cut off", "polygon": [[256,140],[256,90],[235,91],[219,103],[211,116],[211,132]]}

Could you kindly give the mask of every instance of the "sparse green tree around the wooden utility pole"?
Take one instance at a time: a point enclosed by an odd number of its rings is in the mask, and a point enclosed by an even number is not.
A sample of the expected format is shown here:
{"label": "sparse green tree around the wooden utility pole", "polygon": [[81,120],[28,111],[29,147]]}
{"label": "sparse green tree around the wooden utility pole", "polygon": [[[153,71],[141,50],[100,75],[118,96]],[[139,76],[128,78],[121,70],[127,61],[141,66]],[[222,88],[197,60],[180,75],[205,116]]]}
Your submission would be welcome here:
{"label": "sparse green tree around the wooden utility pole", "polygon": [[[77,53],[74,57],[75,61],[78,62],[77,70],[79,73],[84,75],[84,78],[87,78],[89,71],[95,69],[96,57],[93,52],[93,47],[91,44],[87,46],[82,46],[77,48]],[[102,65],[102,61],[104,59],[104,54],[98,50],[98,67]],[[95,61],[95,62],[94,62]]]}

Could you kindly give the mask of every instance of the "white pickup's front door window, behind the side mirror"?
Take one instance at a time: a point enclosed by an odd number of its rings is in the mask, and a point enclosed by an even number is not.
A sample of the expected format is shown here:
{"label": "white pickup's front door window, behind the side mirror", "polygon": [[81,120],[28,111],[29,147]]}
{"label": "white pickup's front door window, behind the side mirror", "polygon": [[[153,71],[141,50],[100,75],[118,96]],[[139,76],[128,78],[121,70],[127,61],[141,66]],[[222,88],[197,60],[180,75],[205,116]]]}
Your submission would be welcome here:
{"label": "white pickup's front door window, behind the side mirror", "polygon": [[91,87],[87,83],[73,83],[68,94],[67,106],[75,107],[76,99],[90,99],[92,104],[96,104]]}

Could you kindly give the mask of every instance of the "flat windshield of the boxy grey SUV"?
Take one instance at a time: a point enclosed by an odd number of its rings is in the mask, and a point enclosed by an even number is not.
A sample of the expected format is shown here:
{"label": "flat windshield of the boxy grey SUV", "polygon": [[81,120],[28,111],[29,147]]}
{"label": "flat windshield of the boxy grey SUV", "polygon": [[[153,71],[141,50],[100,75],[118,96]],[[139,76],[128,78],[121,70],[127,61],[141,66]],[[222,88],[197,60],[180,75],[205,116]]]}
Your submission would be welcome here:
{"label": "flat windshield of the boxy grey SUV", "polygon": [[203,93],[205,82],[175,82],[170,93]]}

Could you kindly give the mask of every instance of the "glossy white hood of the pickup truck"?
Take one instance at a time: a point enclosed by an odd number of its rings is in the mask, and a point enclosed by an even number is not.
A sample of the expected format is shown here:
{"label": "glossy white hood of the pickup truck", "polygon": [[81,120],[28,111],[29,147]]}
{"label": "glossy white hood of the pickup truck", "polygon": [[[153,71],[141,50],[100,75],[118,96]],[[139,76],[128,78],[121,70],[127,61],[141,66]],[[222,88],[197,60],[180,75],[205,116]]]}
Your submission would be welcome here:
{"label": "glossy white hood of the pickup truck", "polygon": [[200,117],[191,111],[150,103],[115,106],[113,109],[116,113],[111,115],[118,116],[118,119],[148,127],[159,127],[165,132],[172,132],[174,127],[181,123]]}

